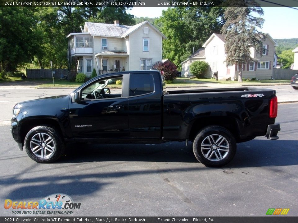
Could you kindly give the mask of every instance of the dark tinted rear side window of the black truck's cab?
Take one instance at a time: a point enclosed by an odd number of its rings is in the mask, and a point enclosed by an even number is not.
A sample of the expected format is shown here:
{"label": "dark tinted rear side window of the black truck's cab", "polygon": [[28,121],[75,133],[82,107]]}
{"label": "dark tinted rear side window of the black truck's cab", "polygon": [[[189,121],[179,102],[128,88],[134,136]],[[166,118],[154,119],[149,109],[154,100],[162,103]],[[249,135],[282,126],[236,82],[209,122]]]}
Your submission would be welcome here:
{"label": "dark tinted rear side window of the black truck's cab", "polygon": [[151,74],[130,74],[129,97],[148,94],[154,91],[154,81]]}

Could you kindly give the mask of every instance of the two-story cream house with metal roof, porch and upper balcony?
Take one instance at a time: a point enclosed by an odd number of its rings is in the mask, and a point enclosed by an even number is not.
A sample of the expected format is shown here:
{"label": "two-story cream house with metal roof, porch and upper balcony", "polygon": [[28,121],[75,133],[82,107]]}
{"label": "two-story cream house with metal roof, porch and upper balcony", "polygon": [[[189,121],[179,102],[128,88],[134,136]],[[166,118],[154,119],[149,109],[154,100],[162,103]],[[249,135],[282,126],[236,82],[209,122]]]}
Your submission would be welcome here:
{"label": "two-story cream house with metal roof, porch and upper balcony", "polygon": [[134,26],[85,22],[81,33],[70,33],[69,67],[90,76],[123,70],[149,70],[162,59],[166,37],[150,22]]}

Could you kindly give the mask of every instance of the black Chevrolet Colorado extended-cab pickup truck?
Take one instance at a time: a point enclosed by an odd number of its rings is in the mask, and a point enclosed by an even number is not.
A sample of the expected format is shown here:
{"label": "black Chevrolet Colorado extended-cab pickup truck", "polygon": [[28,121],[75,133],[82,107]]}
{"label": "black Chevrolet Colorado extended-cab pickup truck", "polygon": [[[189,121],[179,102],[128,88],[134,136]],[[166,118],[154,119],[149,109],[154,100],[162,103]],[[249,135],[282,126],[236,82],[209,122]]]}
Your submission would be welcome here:
{"label": "black Chevrolet Colorado extended-cab pickup truck", "polygon": [[248,87],[166,91],[159,71],[110,73],[69,95],[16,104],[11,133],[38,163],[57,160],[70,142],[192,141],[197,160],[219,167],[233,159],[237,142],[278,139],[275,93]]}

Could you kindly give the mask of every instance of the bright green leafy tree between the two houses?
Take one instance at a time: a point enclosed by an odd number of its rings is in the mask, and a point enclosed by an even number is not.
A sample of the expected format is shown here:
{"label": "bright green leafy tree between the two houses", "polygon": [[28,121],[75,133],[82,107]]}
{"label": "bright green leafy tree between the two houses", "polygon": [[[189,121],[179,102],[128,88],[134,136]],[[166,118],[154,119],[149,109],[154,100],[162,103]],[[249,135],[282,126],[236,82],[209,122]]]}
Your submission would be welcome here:
{"label": "bright green leafy tree between the two houses", "polygon": [[212,33],[219,33],[224,24],[224,7],[175,7],[162,12],[154,21],[167,37],[163,41],[163,58],[180,63],[201,48]]}

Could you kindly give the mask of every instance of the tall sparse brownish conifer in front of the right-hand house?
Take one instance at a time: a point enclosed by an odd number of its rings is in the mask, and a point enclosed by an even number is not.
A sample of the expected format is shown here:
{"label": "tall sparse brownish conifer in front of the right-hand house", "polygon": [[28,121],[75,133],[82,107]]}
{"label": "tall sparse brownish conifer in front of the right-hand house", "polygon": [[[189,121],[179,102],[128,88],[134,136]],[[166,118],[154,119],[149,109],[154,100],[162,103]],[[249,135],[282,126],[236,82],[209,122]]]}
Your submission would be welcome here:
{"label": "tall sparse brownish conifer in front of the right-hand house", "polygon": [[[255,3],[252,1],[252,3]],[[256,3],[255,3],[256,5]],[[225,34],[225,51],[227,65],[243,64],[253,61],[250,48],[262,52],[262,39],[266,35],[257,30],[261,28],[264,19],[252,15],[252,12],[263,15],[261,7],[228,7],[224,12],[226,20],[222,33]],[[260,54],[260,53],[259,53]],[[242,82],[242,69],[239,71],[238,82]]]}

